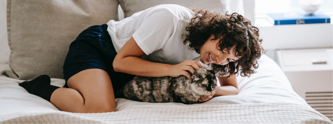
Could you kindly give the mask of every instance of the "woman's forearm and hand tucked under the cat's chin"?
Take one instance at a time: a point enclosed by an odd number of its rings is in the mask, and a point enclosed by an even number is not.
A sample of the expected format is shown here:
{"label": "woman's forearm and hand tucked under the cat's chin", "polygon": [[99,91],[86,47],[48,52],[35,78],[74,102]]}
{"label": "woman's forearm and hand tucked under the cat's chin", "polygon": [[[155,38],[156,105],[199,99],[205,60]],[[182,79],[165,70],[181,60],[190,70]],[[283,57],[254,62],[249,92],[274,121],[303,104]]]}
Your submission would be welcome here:
{"label": "woman's forearm and hand tucked under the cat's chin", "polygon": [[223,95],[237,95],[238,94],[238,83],[236,75],[230,75],[227,79],[226,76],[224,77],[217,77],[220,81],[220,86],[216,86],[215,94],[211,95],[204,95],[199,98],[199,102],[207,101],[216,96],[223,96]]}

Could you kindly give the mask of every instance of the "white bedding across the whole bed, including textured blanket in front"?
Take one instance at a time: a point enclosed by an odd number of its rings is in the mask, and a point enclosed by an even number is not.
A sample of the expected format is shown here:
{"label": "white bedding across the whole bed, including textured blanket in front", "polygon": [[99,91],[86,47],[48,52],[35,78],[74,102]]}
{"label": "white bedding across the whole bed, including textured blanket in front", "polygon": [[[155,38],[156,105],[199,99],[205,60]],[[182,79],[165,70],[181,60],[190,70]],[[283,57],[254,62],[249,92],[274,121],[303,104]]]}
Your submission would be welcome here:
{"label": "white bedding across the whole bed, including textured blanket in front", "polygon": [[[0,76],[0,123],[332,123],[297,95],[279,66],[262,56],[257,73],[238,76],[239,94],[205,103],[147,103],[116,99],[117,112],[69,113],[29,94],[23,80]],[[63,86],[64,79],[51,78]]]}

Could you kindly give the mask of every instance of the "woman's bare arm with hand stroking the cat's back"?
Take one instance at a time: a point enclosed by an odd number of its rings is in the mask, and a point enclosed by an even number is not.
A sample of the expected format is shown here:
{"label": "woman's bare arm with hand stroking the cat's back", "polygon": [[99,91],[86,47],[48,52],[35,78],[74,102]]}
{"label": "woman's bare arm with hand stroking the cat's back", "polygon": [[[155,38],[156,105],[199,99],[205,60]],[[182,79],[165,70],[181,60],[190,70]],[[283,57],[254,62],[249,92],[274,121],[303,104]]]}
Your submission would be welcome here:
{"label": "woman's bare arm with hand stroking the cat's back", "polygon": [[[172,49],[172,48],[170,48]],[[194,60],[186,60],[176,65],[169,65],[163,63],[149,62],[141,59],[145,53],[138,46],[134,38],[130,38],[129,41],[120,49],[113,61],[113,68],[115,71],[129,73],[139,76],[150,76],[150,77],[162,77],[172,76],[178,77],[179,75],[185,75],[188,78],[191,75],[186,72],[189,70],[194,73],[201,67],[201,64]]]}

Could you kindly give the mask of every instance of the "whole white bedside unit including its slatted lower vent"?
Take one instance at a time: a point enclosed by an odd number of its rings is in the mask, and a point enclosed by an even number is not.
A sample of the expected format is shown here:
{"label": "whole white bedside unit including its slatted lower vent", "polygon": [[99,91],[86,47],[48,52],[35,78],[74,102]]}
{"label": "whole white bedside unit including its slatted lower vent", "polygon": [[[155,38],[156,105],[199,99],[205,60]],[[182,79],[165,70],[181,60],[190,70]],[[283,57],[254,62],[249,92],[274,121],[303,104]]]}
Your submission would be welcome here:
{"label": "whole white bedside unit including its slatted lower vent", "polygon": [[333,49],[277,50],[275,61],[293,90],[333,119]]}

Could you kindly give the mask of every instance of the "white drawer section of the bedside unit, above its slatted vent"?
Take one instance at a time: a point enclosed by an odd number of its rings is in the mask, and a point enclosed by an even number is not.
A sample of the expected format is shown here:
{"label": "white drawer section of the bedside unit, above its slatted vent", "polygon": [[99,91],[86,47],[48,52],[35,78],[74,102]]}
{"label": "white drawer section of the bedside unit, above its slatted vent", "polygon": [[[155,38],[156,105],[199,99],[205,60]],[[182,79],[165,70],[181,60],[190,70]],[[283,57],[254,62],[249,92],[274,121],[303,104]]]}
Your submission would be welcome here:
{"label": "white drawer section of the bedside unit, above its slatted vent", "polygon": [[275,53],[275,61],[301,97],[305,99],[306,92],[333,92],[333,48],[277,50]]}

